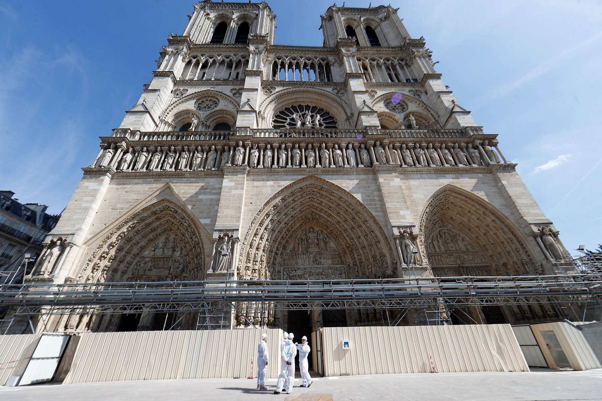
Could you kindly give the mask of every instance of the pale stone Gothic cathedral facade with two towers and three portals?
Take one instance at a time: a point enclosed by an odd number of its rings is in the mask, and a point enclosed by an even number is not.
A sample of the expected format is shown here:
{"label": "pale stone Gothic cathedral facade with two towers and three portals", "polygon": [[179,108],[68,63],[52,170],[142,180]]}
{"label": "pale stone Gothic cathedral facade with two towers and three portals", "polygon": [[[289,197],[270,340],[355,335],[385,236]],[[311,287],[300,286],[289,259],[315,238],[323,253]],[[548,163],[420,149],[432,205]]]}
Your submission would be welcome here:
{"label": "pale stone Gothic cathedral facade with two towers and three portals", "polygon": [[[558,231],[397,11],[335,4],[320,16],[323,46],[283,46],[266,2],[195,4],[140,100],[101,137],[26,279],[559,273],[568,253]],[[229,328],[301,319],[238,306]],[[304,313],[313,329],[383,324],[375,310]],[[545,322],[558,313],[467,303],[450,319]],[[153,329],[157,316],[55,319],[58,331],[84,332]],[[402,324],[424,319],[411,311]]]}

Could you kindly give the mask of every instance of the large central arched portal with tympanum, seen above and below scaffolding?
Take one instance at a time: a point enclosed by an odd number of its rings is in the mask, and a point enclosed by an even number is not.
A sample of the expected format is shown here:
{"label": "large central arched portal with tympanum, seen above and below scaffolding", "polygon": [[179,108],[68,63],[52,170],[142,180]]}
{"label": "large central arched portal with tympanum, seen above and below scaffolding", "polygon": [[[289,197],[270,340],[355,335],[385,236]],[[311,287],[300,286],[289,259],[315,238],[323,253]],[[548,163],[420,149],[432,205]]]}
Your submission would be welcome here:
{"label": "large central arched portal with tympanum, seen above and below scaffolding", "polygon": [[[239,279],[393,278],[391,243],[373,214],[352,194],[316,176],[293,182],[253,218],[239,255]],[[309,306],[309,309],[312,309]],[[241,305],[247,319],[287,330],[287,312]],[[363,317],[362,317],[363,316]],[[312,309],[312,329],[382,322],[380,311]],[[237,316],[237,325],[246,320]]]}

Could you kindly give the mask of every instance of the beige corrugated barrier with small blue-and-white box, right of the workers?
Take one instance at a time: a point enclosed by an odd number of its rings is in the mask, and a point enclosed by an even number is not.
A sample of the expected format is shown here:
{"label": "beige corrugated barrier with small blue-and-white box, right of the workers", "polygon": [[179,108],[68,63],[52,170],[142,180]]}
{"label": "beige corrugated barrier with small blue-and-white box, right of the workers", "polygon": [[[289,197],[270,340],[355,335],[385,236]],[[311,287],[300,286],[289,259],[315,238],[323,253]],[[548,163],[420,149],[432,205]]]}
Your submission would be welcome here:
{"label": "beige corrugated barrier with small blue-and-white box, right of the workers", "polygon": [[[322,328],[324,376],[529,371],[510,325]],[[343,341],[350,349],[343,349]]]}

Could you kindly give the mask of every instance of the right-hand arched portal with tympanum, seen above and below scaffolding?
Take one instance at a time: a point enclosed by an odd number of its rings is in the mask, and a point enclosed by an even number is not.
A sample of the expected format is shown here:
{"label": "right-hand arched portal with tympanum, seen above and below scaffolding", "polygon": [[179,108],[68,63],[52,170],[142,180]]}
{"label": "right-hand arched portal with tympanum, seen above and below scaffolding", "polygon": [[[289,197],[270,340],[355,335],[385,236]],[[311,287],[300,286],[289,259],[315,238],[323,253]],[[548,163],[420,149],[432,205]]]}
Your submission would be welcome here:
{"label": "right-hand arched portal with tympanum, seen above and below scaffolding", "polygon": [[[446,185],[430,198],[418,237],[433,276],[519,276],[535,274],[533,252],[524,234],[501,211],[479,196]],[[514,323],[556,317],[549,304],[482,306],[466,300],[450,306],[456,324]]]}

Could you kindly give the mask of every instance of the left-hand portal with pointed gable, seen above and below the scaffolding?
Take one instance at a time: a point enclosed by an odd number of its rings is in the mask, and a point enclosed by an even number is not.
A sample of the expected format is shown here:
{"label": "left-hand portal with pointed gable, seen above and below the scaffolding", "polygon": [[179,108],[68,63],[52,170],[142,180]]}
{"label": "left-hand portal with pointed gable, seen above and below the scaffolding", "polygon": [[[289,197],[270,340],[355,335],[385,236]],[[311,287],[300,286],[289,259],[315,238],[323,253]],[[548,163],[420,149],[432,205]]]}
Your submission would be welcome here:
{"label": "left-hand portal with pointed gable, seen above and below the scaffolding", "polygon": [[[160,199],[114,222],[101,238],[90,240],[95,250],[76,281],[200,280],[205,272],[202,237],[207,238],[206,232],[187,208]],[[66,332],[169,329],[180,317],[178,312],[140,308],[128,314],[72,314],[60,325]]]}

